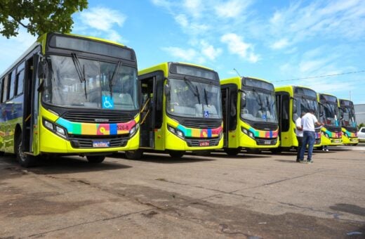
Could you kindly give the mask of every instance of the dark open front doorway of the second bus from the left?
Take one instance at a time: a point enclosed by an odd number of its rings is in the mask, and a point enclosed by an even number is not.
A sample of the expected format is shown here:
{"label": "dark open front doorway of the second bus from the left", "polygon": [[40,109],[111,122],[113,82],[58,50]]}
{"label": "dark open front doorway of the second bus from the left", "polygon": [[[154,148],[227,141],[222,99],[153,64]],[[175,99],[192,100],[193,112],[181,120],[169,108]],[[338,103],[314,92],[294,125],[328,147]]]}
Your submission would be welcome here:
{"label": "dark open front doorway of the second bus from the left", "polygon": [[156,77],[140,79],[142,88],[142,109],[140,112],[140,147],[154,148]]}

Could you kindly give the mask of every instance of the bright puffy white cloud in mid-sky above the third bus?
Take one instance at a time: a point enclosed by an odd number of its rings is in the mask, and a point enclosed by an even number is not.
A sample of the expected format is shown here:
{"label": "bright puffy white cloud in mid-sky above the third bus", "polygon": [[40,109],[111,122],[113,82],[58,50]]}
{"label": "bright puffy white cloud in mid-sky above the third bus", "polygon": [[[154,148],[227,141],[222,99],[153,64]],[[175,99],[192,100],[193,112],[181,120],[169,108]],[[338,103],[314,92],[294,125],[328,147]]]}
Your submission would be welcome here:
{"label": "bright puffy white cloud in mid-sky above the third bus", "polygon": [[253,52],[253,46],[244,42],[244,40],[237,34],[225,34],[220,38],[220,41],[227,44],[228,51],[230,51],[230,53],[237,54],[251,63],[256,63],[260,59],[260,56]]}

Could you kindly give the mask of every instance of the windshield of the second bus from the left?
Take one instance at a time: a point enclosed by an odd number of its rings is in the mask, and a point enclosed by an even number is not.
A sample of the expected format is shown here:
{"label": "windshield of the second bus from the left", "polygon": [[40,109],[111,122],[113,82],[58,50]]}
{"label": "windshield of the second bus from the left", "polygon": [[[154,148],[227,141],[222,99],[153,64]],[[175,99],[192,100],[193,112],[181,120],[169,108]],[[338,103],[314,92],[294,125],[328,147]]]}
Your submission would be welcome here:
{"label": "windshield of the second bus from the left", "polygon": [[220,86],[189,79],[168,79],[166,110],[171,115],[222,119]]}

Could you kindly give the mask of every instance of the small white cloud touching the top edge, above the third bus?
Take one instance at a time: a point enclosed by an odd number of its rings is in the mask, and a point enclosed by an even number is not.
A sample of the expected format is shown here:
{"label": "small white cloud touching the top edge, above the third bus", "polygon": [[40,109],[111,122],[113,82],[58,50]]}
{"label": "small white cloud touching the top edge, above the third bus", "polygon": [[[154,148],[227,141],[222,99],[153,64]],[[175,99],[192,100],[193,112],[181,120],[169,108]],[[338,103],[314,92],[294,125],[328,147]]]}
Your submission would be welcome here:
{"label": "small white cloud touching the top edge, above the third bus", "polygon": [[231,0],[223,1],[215,6],[215,13],[220,18],[236,18],[251,4],[251,1]]}

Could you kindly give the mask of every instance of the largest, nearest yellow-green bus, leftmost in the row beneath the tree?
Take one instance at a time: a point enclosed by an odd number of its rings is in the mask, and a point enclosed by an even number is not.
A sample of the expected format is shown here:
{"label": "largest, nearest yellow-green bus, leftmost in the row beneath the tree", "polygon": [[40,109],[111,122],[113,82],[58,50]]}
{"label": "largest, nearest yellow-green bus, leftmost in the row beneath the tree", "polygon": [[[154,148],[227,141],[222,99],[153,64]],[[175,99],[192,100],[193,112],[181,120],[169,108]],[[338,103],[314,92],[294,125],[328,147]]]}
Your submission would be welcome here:
{"label": "largest, nearest yellow-green bus, leftmost in the row beneath the tree", "polygon": [[133,49],[94,37],[44,34],[0,77],[0,152],[23,167],[41,155],[105,155],[139,144]]}

